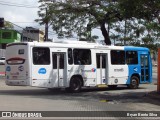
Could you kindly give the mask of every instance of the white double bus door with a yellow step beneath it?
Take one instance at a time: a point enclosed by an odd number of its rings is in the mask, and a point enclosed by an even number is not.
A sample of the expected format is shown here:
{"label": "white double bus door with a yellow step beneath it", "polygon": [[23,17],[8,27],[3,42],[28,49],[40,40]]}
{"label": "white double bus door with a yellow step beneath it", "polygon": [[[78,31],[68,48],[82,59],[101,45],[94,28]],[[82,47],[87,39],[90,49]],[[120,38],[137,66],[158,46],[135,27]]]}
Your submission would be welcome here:
{"label": "white double bus door with a yellow step beneath it", "polygon": [[97,84],[103,85],[108,80],[108,56],[106,53],[97,53]]}

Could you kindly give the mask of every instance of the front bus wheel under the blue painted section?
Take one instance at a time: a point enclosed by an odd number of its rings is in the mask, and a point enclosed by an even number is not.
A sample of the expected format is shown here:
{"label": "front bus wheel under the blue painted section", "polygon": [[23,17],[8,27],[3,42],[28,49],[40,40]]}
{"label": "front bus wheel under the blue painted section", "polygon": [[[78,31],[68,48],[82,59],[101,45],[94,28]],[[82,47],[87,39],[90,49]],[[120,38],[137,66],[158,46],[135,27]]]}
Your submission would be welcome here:
{"label": "front bus wheel under the blue painted section", "polygon": [[136,76],[132,76],[129,88],[131,88],[131,89],[137,89],[138,86],[139,86],[139,78],[136,77]]}

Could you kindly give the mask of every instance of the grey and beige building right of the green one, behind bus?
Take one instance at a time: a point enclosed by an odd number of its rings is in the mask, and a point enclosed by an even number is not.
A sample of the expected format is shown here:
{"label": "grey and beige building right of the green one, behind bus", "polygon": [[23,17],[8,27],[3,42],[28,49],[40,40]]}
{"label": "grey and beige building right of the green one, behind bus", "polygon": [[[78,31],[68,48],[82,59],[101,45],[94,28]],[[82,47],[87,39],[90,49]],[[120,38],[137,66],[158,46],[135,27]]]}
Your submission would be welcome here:
{"label": "grey and beige building right of the green one, behind bus", "polygon": [[22,31],[22,41],[23,42],[44,42],[44,32],[40,29],[33,27],[26,27]]}

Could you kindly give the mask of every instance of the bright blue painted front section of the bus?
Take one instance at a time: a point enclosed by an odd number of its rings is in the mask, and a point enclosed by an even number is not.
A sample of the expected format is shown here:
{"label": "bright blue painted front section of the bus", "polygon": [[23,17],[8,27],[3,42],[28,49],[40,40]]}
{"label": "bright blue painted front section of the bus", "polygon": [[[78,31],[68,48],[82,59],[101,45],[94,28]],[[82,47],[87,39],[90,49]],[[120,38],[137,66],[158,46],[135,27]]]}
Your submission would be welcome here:
{"label": "bright blue painted front section of the bus", "polygon": [[[132,76],[139,78],[139,83],[151,83],[152,82],[152,61],[150,58],[150,52],[145,47],[124,47],[125,52],[135,51],[138,57],[137,64],[128,64],[128,80],[126,84],[130,84]],[[126,56],[125,56],[126,57]],[[127,59],[127,58],[126,58]]]}

